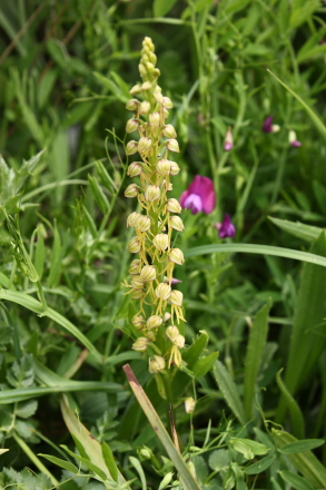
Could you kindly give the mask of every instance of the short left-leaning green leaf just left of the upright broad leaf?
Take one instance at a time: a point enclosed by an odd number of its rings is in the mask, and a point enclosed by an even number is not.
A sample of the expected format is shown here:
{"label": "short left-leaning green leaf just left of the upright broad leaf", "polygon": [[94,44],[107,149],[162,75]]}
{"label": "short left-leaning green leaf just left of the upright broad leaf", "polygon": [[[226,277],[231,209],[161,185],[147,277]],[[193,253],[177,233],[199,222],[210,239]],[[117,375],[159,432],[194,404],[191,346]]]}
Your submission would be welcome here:
{"label": "short left-leaning green leaf just left of the upright broad leaf", "polygon": [[231,379],[229,372],[225,369],[221,362],[216,361],[214,366],[214,375],[217,381],[217,384],[224,395],[227,404],[238,419],[238,421],[245,425],[246,424],[246,415],[244,405],[240,401],[240,396],[238,393],[237,385]]}

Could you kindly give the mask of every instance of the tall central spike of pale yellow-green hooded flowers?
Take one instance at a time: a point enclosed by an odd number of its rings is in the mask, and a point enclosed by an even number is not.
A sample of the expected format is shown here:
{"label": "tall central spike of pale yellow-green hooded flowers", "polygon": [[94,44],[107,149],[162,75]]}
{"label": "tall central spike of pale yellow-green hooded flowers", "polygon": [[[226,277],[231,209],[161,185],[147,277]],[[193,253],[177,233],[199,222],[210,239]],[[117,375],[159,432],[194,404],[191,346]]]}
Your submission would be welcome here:
{"label": "tall central spike of pale yellow-green hooded flowers", "polygon": [[171,245],[172,233],[185,229],[179,216],[181,206],[169,197],[171,178],[180,171],[170,155],[179,153],[179,146],[174,126],[166,121],[174,105],[157,84],[160,71],[156,61],[154,43],[146,37],[139,63],[142,82],[130,90],[138,98],[127,102],[127,109],[134,112],[127,133],[139,134],[138,140],[127,144],[127,155],[140,156],[139,161],[129,165],[128,175],[139,182],[130,184],[125,192],[126,197],[137,198],[139,204],[139,212],[127,218],[127,226],[136,232],[128,249],[137,258],[129,268],[130,284],[125,285],[130,288],[131,297],[139,301],[132,324],[140,336],[132,349],[156,353],[149,359],[151,373],[165,370],[166,361],[169,366],[179,366],[185,345],[185,337],[174,324],[185,321],[182,293],[171,287],[176,282],[175,266],[185,262],[182,251]]}

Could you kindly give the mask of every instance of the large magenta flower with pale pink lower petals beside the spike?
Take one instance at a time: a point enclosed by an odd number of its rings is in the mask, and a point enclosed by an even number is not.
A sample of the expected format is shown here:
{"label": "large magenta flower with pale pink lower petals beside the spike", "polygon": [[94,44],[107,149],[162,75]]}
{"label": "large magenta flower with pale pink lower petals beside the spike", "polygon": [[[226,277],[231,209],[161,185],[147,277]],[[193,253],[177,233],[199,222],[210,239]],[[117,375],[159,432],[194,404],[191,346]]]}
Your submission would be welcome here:
{"label": "large magenta flower with pale pink lower petals beside the spike", "polygon": [[180,197],[180,204],[185,209],[191,209],[192,214],[200,212],[210,214],[215,209],[216,194],[214,183],[208,177],[196,175],[188,190]]}

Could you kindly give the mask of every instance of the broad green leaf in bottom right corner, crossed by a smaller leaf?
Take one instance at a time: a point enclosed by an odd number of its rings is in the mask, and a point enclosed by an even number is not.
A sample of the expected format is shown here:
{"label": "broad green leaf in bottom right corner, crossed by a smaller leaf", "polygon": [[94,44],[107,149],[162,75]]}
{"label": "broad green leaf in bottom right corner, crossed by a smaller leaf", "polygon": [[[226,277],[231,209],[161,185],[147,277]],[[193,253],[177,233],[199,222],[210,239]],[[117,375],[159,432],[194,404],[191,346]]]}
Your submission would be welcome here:
{"label": "broad green leaf in bottom right corner, crossed by a smaller leaf", "polygon": [[[296,438],[285,431],[271,429],[271,435],[279,449],[293,442],[299,442]],[[326,488],[326,468],[317,460],[312,451],[287,454],[287,458],[290,459],[296,469],[315,488]]]}

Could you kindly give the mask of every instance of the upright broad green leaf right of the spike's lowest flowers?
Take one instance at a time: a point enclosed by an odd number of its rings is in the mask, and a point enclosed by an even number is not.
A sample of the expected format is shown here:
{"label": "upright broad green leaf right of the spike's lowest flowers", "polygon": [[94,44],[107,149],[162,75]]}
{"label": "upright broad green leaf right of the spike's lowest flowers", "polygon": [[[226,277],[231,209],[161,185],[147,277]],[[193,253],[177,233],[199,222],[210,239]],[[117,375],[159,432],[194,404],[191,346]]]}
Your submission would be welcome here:
{"label": "upright broad green leaf right of the spike's lowest flowers", "polygon": [[245,411],[246,416],[253,415],[253,402],[256,392],[257,376],[261,364],[264,349],[268,333],[268,314],[271,307],[269,301],[256,315],[253,327],[250,329],[247,356],[245,362]]}

